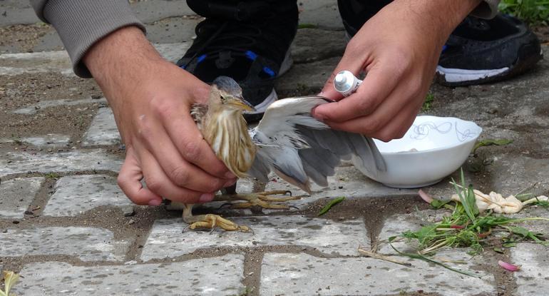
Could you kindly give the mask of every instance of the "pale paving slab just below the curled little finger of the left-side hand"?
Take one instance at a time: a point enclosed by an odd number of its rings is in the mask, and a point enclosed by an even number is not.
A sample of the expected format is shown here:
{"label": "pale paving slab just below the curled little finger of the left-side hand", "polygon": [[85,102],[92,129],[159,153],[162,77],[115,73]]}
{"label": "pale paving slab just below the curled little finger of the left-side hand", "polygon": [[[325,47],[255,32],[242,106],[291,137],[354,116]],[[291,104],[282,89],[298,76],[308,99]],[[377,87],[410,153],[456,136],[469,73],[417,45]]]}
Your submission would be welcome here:
{"label": "pale paving slab just below the curled little finger of the left-side hand", "polygon": [[133,205],[109,175],[69,175],[57,181],[55,190],[42,215],[76,216],[101,205]]}

